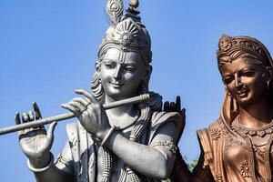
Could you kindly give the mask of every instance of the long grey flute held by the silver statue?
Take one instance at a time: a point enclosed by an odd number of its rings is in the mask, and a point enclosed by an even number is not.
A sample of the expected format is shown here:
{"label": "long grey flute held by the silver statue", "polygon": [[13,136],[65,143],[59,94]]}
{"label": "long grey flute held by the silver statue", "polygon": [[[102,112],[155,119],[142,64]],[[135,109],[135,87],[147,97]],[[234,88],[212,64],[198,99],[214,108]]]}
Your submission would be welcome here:
{"label": "long grey flute held by the silver statue", "polygon": [[[105,109],[110,109],[110,108],[114,108],[117,106],[124,106],[124,105],[128,105],[128,104],[136,104],[136,103],[140,103],[143,101],[146,101],[149,98],[148,94],[143,94],[140,96],[133,96],[130,98],[126,98],[123,100],[118,100],[112,103],[107,103],[104,104],[103,107]],[[27,123],[23,123],[20,125],[15,125],[15,126],[7,126],[4,128],[0,129],[0,136],[5,135],[5,134],[9,134],[9,133],[13,133],[15,131],[20,131],[20,130],[24,130],[26,128],[31,128],[31,127],[37,127],[37,126],[44,126],[46,124],[50,124],[53,122],[58,122],[58,121],[62,121],[62,120],[66,120],[66,119],[70,119],[75,117],[74,113],[65,113],[65,114],[61,114],[61,115],[57,115],[57,116],[50,116],[50,117],[46,117],[43,119],[39,119],[39,120],[35,120],[35,121],[31,121],[31,122],[27,122]]]}

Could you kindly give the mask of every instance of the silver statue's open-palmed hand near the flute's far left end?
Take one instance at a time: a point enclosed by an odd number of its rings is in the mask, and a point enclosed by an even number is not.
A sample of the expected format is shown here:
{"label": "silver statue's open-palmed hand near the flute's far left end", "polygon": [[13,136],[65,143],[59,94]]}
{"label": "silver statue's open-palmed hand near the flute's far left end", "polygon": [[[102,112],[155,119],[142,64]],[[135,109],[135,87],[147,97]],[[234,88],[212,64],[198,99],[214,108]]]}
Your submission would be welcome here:
{"label": "silver statue's open-palmed hand near the flute's far left end", "polygon": [[[33,108],[33,111],[23,114],[23,123],[42,118],[40,109],[35,102],[33,103]],[[21,124],[19,113],[15,114],[15,124]],[[19,131],[21,148],[34,167],[44,167],[48,163],[50,159],[50,149],[54,140],[55,126],[56,122],[52,123],[47,132],[45,126]]]}

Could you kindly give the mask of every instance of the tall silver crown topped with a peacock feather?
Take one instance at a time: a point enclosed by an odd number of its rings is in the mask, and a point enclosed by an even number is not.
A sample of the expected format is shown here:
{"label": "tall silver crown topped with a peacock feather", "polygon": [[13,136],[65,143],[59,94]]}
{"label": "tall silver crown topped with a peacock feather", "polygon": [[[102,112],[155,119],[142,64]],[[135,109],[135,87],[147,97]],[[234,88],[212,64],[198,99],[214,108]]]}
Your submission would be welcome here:
{"label": "tall silver crown topped with a peacock feather", "polygon": [[98,57],[106,54],[109,48],[137,52],[148,65],[152,60],[151,40],[145,25],[141,23],[138,1],[130,0],[124,11],[123,0],[108,0],[106,13],[111,25],[99,46]]}

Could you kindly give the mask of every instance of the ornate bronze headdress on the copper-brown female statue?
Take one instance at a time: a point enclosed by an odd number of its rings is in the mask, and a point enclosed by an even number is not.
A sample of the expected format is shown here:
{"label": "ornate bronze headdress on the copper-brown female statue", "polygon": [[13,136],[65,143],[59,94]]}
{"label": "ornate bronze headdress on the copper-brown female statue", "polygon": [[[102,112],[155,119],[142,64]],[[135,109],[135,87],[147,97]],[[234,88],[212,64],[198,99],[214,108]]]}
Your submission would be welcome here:
{"label": "ornate bronze headdress on the copper-brown female statue", "polygon": [[236,51],[243,51],[258,57],[259,61],[273,66],[272,58],[268,49],[260,41],[250,36],[229,36],[222,35],[219,39],[217,60],[223,56],[230,56]]}

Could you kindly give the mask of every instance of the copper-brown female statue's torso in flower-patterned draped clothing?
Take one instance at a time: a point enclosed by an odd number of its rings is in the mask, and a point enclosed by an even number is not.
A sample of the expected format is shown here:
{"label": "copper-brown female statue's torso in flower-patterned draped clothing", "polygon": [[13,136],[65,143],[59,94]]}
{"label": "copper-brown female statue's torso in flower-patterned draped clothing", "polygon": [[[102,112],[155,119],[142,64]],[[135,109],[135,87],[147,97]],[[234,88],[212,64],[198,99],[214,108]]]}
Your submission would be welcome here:
{"label": "copper-brown female statue's torso in flower-patterned draped clothing", "polygon": [[260,136],[247,133],[236,125],[227,126],[221,119],[198,131],[205,163],[216,181],[271,181],[272,131]]}

